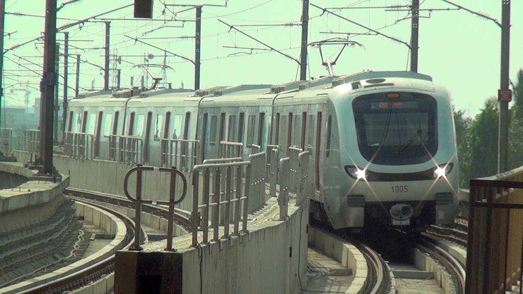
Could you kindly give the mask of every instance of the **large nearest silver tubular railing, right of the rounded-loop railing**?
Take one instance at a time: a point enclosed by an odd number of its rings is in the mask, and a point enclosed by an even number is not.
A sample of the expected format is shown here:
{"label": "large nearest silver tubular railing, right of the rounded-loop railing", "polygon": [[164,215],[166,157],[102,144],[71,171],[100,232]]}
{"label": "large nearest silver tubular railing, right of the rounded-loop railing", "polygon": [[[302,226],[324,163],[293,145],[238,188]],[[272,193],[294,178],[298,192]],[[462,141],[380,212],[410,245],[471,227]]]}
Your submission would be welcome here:
{"label": "large nearest silver tubular railing, right of the rounded-loop railing", "polygon": [[[195,165],[192,169],[192,246],[198,244],[198,227],[203,231],[204,244],[209,243],[209,229],[213,230],[212,241],[220,239],[220,210],[223,206],[223,238],[228,238],[229,224],[234,224],[233,234],[240,233],[240,221],[242,222],[241,232],[247,232],[247,208],[250,185],[242,184],[242,169],[246,168],[245,183],[250,183],[251,174],[250,161],[235,161],[226,163],[206,163]],[[200,174],[202,183],[200,186]],[[211,184],[212,174],[212,184]],[[225,185],[223,188],[222,186]],[[224,200],[220,200],[220,194],[224,191]],[[201,192],[200,192],[201,191]],[[201,193],[201,195],[200,195]],[[202,199],[199,205],[198,199]],[[233,210],[231,206],[234,205]],[[243,211],[242,211],[243,206]],[[201,213],[199,212],[201,210]],[[211,211],[210,211],[211,210]],[[232,218],[231,218],[232,212]],[[201,219],[200,219],[201,215]],[[201,220],[201,223],[200,223]],[[211,221],[209,228],[209,221]]]}

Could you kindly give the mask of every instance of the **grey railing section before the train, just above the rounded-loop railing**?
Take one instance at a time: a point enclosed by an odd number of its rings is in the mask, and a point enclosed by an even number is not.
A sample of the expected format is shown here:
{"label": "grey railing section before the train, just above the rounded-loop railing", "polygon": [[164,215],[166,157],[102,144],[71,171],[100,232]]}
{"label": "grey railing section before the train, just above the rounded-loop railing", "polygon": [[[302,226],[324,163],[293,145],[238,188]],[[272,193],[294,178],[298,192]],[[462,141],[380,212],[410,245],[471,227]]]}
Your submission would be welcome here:
{"label": "grey railing section before the train, just above the rounded-loop railing", "polygon": [[192,171],[198,162],[198,140],[162,139],[162,166],[176,166],[180,171]]}

